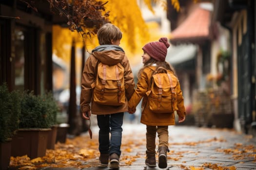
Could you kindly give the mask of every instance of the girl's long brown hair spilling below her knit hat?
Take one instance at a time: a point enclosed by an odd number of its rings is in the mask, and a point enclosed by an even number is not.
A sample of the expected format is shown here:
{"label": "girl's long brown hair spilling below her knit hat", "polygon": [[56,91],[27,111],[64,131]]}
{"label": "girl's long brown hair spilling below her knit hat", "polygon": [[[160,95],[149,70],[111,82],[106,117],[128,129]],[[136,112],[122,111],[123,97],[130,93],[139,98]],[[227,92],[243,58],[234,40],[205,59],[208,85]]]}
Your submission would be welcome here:
{"label": "girl's long brown hair spilling below her knit hat", "polygon": [[[154,75],[154,74],[156,73],[156,70],[158,70],[158,68],[165,68],[165,69],[168,69],[168,70],[172,71],[173,74],[177,77],[176,71],[175,71],[175,69],[172,67],[171,64],[167,63],[166,61],[157,61],[157,60],[155,60],[154,58],[151,57],[151,58],[144,64],[144,66],[139,69],[138,75],[137,75],[138,79],[140,79],[140,73],[141,73],[141,71],[142,71],[144,68],[146,68],[146,67],[152,66],[153,64],[156,64],[156,69],[155,69],[155,71],[153,71],[153,73],[151,74],[151,77],[152,77],[152,75]],[[151,77],[150,77],[150,78],[151,78]]]}

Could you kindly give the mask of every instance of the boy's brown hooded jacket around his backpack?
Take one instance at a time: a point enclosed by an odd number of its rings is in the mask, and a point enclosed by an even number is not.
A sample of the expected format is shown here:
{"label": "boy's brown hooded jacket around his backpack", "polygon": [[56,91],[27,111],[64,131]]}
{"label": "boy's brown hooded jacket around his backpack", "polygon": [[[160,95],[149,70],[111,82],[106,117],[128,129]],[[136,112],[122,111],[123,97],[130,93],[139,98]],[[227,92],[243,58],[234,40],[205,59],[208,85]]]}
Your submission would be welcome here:
{"label": "boy's brown hooded jacket around his backpack", "polygon": [[[134,76],[132,70],[130,68],[129,61],[124,51],[120,47],[114,46],[114,48],[107,49],[107,47],[113,47],[110,45],[103,45],[98,47],[104,47],[103,50],[101,48],[96,48],[86,60],[85,66],[82,72],[81,79],[81,96],[80,96],[80,106],[82,112],[90,111],[92,114],[96,115],[105,115],[105,114],[113,114],[119,112],[127,112],[128,111],[128,100],[131,98],[134,92]],[[117,49],[115,49],[117,48]],[[99,49],[97,51],[97,49]],[[113,50],[114,49],[114,50]],[[126,102],[121,106],[109,106],[98,104],[93,101],[93,88],[92,85],[96,81],[97,77],[97,66],[99,61],[106,65],[114,65],[117,63],[121,63],[124,67],[124,84],[125,84],[125,95]]]}

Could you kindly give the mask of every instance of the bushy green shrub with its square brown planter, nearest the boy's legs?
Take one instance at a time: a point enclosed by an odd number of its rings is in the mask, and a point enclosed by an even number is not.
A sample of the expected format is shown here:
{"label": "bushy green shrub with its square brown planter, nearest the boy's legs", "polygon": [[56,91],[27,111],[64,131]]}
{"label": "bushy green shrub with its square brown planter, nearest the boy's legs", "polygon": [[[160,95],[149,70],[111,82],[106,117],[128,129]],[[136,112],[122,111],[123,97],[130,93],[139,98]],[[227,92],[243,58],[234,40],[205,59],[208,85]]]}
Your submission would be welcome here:
{"label": "bushy green shrub with its square brown planter, nearest the boy's legs", "polygon": [[50,93],[36,96],[33,91],[25,91],[20,104],[19,129],[12,140],[11,154],[28,155],[31,159],[42,157],[51,127],[56,123],[54,102]]}

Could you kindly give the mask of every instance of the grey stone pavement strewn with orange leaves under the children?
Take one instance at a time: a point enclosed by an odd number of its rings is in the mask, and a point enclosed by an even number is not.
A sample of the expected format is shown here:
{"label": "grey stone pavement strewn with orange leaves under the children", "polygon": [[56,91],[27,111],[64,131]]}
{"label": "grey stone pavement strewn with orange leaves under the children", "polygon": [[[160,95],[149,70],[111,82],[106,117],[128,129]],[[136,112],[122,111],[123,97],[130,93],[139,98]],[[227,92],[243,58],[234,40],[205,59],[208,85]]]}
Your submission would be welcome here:
{"label": "grey stone pavement strewn with orange leaves under the children", "polygon": [[[98,127],[93,128],[94,135]],[[134,142],[145,139],[143,124],[124,124],[123,141],[132,136]],[[86,134],[88,135],[88,134]],[[158,142],[158,139],[157,139]],[[145,145],[122,151],[122,156],[139,156],[131,165],[120,161],[120,170],[164,170],[145,166]],[[169,127],[168,167],[165,170],[256,170],[256,137],[230,129]],[[99,167],[98,158],[84,164],[93,165],[82,170],[109,170]],[[44,168],[41,170],[79,170],[74,168]]]}

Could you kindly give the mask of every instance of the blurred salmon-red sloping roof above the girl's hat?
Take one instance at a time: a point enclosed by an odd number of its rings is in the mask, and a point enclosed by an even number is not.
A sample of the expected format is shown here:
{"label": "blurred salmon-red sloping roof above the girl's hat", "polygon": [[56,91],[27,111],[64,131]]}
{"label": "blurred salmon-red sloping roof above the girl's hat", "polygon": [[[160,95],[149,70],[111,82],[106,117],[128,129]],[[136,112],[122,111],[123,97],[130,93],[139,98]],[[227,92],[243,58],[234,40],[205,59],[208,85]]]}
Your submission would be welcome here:
{"label": "blurred salmon-red sloping roof above the girl's hat", "polygon": [[198,7],[170,34],[172,43],[183,43],[210,38],[210,11]]}

